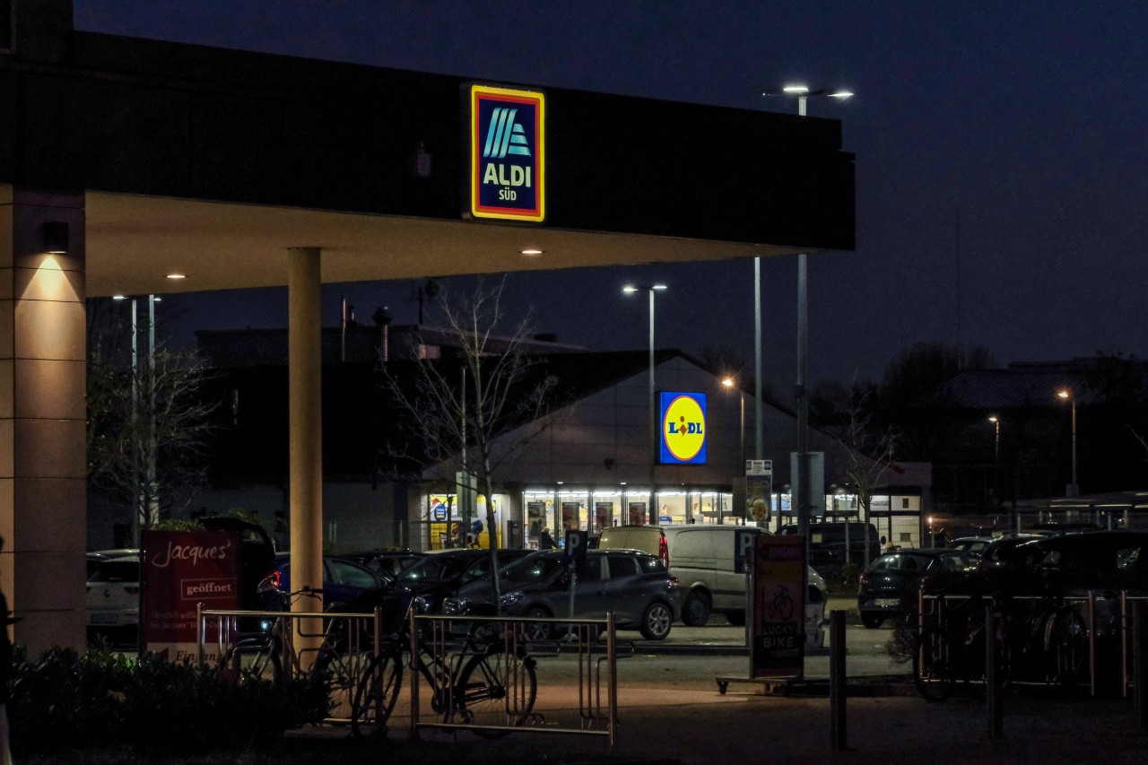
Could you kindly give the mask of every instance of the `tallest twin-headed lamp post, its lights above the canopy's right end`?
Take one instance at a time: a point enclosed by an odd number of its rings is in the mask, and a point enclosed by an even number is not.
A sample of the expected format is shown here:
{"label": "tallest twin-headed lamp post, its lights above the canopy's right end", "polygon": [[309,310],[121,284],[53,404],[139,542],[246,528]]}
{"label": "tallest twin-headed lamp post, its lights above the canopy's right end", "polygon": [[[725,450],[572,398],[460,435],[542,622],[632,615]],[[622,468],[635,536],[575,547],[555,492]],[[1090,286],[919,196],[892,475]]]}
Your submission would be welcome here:
{"label": "tallest twin-headed lamp post, its lights above the canopy's right end", "polygon": [[[762,95],[789,95],[797,98],[797,113],[806,116],[806,101],[809,98],[831,98],[845,100],[853,95],[844,88],[820,87],[810,90],[805,85],[785,85],[770,87]],[[809,486],[809,319],[808,319],[808,283],[806,271],[806,254],[797,256],[797,524],[798,533],[809,538],[809,516],[813,511]],[[759,319],[760,320],[760,319]],[[760,345],[760,338],[759,338]],[[758,372],[760,377],[760,371]],[[759,396],[760,399],[760,396]],[[758,405],[761,403],[759,401]]]}

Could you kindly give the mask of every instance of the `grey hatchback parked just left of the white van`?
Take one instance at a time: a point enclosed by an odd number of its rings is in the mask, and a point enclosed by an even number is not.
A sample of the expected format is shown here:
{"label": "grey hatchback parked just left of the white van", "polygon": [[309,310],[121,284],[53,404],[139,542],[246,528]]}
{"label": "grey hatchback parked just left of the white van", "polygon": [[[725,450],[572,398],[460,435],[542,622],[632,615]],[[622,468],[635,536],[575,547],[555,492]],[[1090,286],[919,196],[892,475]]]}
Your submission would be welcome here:
{"label": "grey hatchback parked just left of the white van", "polygon": [[[535,552],[505,570],[501,611],[533,618],[602,619],[614,613],[620,629],[638,629],[646,640],[669,635],[677,609],[677,578],[657,557],[638,550],[588,550],[574,580],[560,551]],[[573,612],[572,612],[573,609]],[[535,638],[551,632],[543,625]]]}

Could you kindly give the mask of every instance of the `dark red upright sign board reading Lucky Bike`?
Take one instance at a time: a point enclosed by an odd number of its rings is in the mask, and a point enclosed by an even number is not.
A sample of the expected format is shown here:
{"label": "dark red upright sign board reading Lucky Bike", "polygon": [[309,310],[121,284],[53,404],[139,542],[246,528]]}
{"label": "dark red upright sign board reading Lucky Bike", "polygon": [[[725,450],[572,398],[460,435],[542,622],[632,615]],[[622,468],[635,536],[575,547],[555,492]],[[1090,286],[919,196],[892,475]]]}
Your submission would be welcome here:
{"label": "dark red upright sign board reading Lucky Bike", "polygon": [[753,549],[754,678],[805,674],[805,538],[757,534]]}

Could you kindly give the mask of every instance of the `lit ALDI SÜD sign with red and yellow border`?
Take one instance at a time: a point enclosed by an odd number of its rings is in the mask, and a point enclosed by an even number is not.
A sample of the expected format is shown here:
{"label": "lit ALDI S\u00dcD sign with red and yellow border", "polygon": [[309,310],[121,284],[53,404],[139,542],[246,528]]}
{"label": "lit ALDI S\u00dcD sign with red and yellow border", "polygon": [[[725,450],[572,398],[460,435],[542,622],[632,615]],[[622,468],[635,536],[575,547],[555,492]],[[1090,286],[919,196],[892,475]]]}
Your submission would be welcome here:
{"label": "lit ALDI S\u00dcD sign with red and yellow border", "polygon": [[471,85],[471,215],[545,217],[545,96]]}

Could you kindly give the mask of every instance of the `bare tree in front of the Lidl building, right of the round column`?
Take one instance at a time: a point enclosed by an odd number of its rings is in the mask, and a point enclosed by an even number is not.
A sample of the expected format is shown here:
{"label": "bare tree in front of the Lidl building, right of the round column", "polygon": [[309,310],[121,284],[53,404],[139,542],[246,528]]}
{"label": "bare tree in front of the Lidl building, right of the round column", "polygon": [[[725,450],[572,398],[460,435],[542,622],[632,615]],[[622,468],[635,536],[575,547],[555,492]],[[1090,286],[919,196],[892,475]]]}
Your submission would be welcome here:
{"label": "bare tree in front of the Lidl building, right of the round column", "polygon": [[[529,316],[499,333],[510,324],[504,287],[505,278],[495,287],[479,280],[471,294],[457,299],[445,289],[440,292],[437,308],[457,356],[444,353],[437,361],[416,364],[412,380],[388,371],[405,430],[422,442],[427,461],[453,466],[473,481],[486,502],[496,603],[501,592],[495,476],[501,465],[553,424],[548,407],[556,389],[556,379],[538,373],[540,362],[527,354],[526,343],[533,334]],[[521,425],[528,427],[513,439],[499,439]]]}

